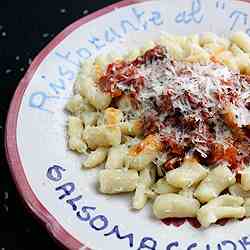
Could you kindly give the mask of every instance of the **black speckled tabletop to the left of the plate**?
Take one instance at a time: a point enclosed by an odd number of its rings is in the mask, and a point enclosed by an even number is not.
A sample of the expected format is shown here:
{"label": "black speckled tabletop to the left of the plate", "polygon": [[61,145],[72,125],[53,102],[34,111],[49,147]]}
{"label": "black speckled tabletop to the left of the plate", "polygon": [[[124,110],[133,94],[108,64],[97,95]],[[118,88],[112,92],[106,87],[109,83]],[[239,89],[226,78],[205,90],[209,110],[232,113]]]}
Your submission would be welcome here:
{"label": "black speckled tabletop to the left of the plate", "polygon": [[0,0],[0,250],[60,249],[27,211],[4,152],[4,125],[32,59],[62,29],[117,0]]}

